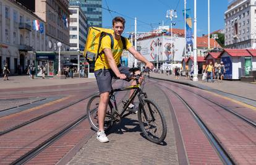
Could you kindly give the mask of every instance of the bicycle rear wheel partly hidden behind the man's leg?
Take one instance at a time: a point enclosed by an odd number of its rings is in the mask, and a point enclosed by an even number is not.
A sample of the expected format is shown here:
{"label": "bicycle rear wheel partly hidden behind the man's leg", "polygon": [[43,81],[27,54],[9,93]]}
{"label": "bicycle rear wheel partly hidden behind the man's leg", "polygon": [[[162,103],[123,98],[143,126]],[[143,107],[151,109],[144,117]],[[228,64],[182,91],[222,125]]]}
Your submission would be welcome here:
{"label": "bicycle rear wheel partly hidden behind the man's leg", "polygon": [[[92,129],[95,131],[98,131],[99,129],[99,124],[98,124],[99,103],[100,103],[100,96],[96,95],[90,98],[87,104],[87,117],[90,122],[90,125],[92,126]],[[109,127],[111,127],[111,119],[112,119],[111,116],[112,116],[112,108],[111,108],[111,103],[109,103],[106,110],[104,130],[107,130],[109,129]]]}

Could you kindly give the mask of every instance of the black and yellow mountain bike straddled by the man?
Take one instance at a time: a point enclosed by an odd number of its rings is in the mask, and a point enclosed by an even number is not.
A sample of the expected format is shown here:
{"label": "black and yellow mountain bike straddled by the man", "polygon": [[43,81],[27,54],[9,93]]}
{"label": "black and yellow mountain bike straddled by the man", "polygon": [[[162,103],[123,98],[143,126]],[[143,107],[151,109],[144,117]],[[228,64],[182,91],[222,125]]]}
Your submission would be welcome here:
{"label": "black and yellow mountain bike straddled by the man", "polygon": [[[133,114],[130,111],[127,111],[130,103],[133,103],[135,96],[139,98],[139,106],[137,109],[138,121],[140,129],[142,129],[145,137],[153,143],[161,143],[166,137],[166,121],[163,115],[163,112],[155,101],[148,99],[147,93],[143,92],[143,86],[145,85],[145,79],[149,77],[150,69],[145,69],[140,72],[139,75],[135,75],[135,72],[139,70],[137,68],[132,68],[129,71],[132,72],[130,79],[136,81],[136,85],[129,87],[116,88],[110,91],[109,93],[109,103],[106,110],[106,117],[104,121],[105,130],[109,129],[115,123],[119,123],[122,118]],[[139,79],[142,79],[142,82],[139,82]],[[114,92],[117,91],[126,91],[134,90],[132,95],[127,101],[122,101],[124,104],[122,111],[119,112],[117,109],[116,98]],[[100,95],[95,95],[88,101],[87,104],[87,116],[92,126],[92,129],[98,131],[98,105],[100,103]],[[113,106],[114,105],[114,106]],[[125,114],[125,112],[127,112]],[[89,115],[88,115],[89,114]]]}

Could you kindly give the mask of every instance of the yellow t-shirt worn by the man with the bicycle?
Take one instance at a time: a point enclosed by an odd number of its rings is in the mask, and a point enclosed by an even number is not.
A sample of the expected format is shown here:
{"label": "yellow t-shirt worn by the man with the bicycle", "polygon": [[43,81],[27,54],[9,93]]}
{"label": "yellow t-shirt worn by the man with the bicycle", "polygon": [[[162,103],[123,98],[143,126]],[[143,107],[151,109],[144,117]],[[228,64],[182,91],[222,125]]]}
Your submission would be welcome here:
{"label": "yellow t-shirt worn by the man with the bicycle", "polygon": [[[114,39],[114,36],[113,36]],[[126,48],[129,49],[130,47],[132,47],[132,44],[130,43],[130,41],[126,38]],[[101,48],[100,51],[103,51],[103,49],[105,48],[109,48],[111,49],[111,39],[109,36],[104,36],[101,40]],[[113,57],[114,57],[114,61],[116,61],[116,64],[119,65],[120,64],[120,58],[122,55],[122,40],[121,38],[119,40],[114,39],[114,46],[112,49],[112,53],[113,53]],[[101,56],[101,57],[100,57]],[[94,70],[99,70],[99,69],[111,69],[111,67],[108,64],[108,59],[106,57],[106,55],[103,53],[100,56],[98,56],[98,58],[96,59],[95,62],[95,69]]]}

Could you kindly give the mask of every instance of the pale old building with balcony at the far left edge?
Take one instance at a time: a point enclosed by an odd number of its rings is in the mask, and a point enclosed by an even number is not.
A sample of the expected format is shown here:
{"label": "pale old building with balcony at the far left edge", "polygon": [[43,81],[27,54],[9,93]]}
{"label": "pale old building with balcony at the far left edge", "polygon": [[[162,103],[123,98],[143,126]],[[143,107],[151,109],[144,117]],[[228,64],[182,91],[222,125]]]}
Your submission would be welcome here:
{"label": "pale old building with balcony at the far left edge", "polygon": [[45,51],[45,31],[33,30],[33,20],[46,23],[19,2],[0,1],[0,74],[7,64],[11,74],[25,73],[35,62],[32,51]]}

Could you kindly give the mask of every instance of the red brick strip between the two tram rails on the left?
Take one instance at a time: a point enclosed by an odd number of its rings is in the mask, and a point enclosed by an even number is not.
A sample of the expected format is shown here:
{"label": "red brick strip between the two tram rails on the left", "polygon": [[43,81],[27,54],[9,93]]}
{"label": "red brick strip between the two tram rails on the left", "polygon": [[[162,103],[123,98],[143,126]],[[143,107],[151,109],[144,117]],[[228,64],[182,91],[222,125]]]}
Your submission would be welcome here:
{"label": "red brick strip between the two tram rails on the left", "polygon": [[[88,101],[88,99],[87,99]],[[0,159],[11,163],[85,113],[87,101],[75,104],[40,121],[0,137]]]}

